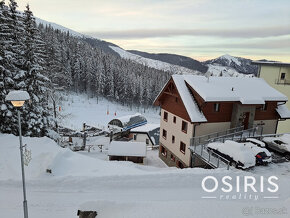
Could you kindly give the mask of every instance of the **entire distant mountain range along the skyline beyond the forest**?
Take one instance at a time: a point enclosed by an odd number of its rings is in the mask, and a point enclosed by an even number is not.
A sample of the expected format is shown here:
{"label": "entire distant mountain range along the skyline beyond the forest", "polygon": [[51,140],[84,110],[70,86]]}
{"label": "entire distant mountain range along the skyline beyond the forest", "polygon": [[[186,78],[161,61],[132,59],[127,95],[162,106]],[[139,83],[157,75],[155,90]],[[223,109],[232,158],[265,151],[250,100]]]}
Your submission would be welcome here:
{"label": "entire distant mountain range along the skyline beyond the forest", "polygon": [[190,57],[176,54],[151,54],[137,50],[126,51],[118,45],[76,32],[56,23],[48,22],[40,18],[36,18],[36,22],[38,24],[41,23],[44,26],[50,25],[52,28],[58,29],[62,32],[69,32],[72,36],[81,38],[91,46],[102,49],[105,53],[120,56],[124,59],[132,60],[136,63],[141,63],[157,70],[177,74],[207,73],[216,76],[219,76],[221,72],[224,76],[237,76],[239,74],[256,75],[258,70],[257,66],[251,65],[252,60],[242,57],[234,57],[226,54],[216,59],[200,62]]}

